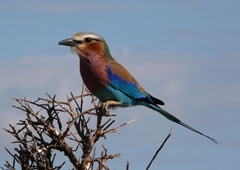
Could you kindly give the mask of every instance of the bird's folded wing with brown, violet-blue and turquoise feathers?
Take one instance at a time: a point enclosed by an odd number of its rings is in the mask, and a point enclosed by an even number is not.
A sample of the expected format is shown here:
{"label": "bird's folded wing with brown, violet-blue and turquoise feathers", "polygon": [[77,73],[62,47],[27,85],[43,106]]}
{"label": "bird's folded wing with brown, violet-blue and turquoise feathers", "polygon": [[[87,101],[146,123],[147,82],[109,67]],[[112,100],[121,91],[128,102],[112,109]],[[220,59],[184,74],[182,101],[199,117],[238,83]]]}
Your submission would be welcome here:
{"label": "bird's folded wing with brown, violet-blue and turquoise feathers", "polygon": [[149,95],[134,77],[119,63],[112,60],[106,64],[108,85],[95,93],[102,102],[118,101],[122,106],[145,105],[146,103],[164,103]]}

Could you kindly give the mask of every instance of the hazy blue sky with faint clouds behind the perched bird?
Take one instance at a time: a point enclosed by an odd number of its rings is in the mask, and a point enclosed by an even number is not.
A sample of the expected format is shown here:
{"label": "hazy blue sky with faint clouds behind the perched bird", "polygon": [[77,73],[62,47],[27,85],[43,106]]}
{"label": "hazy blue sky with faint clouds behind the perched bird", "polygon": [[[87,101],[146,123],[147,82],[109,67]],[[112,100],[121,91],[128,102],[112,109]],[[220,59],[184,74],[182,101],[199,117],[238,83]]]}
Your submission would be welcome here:
{"label": "hazy blue sky with faint clouds behind the perched bird", "polygon": [[[173,135],[152,169],[239,169],[240,1],[1,1],[1,129],[25,115],[11,97],[64,98],[80,93],[78,57],[57,43],[78,31],[102,35],[114,55],[164,108],[221,145],[147,108],[118,109],[117,121],[137,122],[110,135],[109,166],[144,169]],[[12,138],[0,131],[1,158]],[[3,163],[3,160],[0,161]],[[119,166],[121,168],[118,168]]]}

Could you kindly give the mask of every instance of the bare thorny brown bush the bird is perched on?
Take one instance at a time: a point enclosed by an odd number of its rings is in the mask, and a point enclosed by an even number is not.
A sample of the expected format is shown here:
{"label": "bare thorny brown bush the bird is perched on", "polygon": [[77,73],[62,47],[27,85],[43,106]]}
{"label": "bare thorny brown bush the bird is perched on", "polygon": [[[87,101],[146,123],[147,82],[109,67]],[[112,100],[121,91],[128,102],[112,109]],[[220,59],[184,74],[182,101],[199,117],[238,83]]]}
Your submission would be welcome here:
{"label": "bare thorny brown bush the bird is perched on", "polygon": [[[12,143],[18,145],[14,152],[5,148],[13,161],[6,161],[2,169],[16,170],[20,166],[24,170],[59,170],[69,160],[73,169],[93,170],[97,165],[98,170],[109,170],[105,163],[121,154],[108,154],[107,148],[102,145],[101,154],[96,157],[96,143],[100,138],[106,139],[108,133],[115,133],[136,120],[110,128],[115,120],[109,117],[116,115],[107,113],[101,104],[96,104],[97,99],[84,85],[81,95],[71,93],[67,101],[56,100],[55,95],[46,95],[46,98],[39,97],[35,101],[13,98],[18,103],[13,107],[25,112],[26,118],[19,120],[15,126],[9,124],[10,129],[4,129],[15,137],[16,141]],[[84,110],[86,97],[91,98],[93,107]],[[67,158],[59,165],[55,161],[56,151],[63,152]],[[129,169],[129,163],[126,169]]]}

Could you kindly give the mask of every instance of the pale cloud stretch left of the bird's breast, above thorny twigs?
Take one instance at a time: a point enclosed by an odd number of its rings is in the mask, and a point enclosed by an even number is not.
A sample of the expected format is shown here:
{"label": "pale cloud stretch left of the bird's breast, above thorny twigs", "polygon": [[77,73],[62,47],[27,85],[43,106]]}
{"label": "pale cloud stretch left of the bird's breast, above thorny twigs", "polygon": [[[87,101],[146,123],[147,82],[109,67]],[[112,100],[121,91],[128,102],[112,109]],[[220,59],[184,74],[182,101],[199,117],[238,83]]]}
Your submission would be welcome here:
{"label": "pale cloud stretch left of the bird's breast, above thorny twigs", "polygon": [[[1,62],[0,95],[7,93],[12,88],[19,90],[45,89],[46,91],[48,88],[54,88],[59,91],[61,86],[65,86],[65,89],[70,89],[70,86],[73,85],[72,80],[80,80],[78,62],[76,56],[25,57],[15,61]],[[76,87],[76,85],[72,87]],[[58,92],[57,90],[55,92]]]}

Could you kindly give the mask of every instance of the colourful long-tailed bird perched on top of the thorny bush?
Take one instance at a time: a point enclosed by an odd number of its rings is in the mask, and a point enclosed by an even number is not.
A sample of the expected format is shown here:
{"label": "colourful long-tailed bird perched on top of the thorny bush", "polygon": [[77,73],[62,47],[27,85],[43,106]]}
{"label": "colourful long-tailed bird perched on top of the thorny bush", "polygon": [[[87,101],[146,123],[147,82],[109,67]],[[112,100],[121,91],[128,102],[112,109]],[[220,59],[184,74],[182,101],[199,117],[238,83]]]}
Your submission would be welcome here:
{"label": "colourful long-tailed bird perched on top of the thorny bush", "polygon": [[150,95],[111,55],[104,38],[96,33],[78,32],[72,38],[64,39],[58,45],[70,46],[80,58],[80,74],[88,90],[107,109],[110,106],[146,106],[167,119],[184,126],[214,143],[218,141],[183,123],[180,119],[162,109],[164,102]]}

